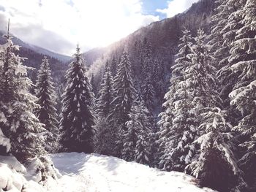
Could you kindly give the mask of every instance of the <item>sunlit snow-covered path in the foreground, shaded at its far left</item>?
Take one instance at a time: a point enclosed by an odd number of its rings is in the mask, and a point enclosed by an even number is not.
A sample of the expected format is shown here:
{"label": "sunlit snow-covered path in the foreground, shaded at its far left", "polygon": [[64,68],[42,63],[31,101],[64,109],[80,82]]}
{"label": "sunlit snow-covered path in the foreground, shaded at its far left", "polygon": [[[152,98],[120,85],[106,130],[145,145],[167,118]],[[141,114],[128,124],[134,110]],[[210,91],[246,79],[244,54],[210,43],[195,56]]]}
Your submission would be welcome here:
{"label": "sunlit snow-covered path in the foreground, shaded at its far left", "polygon": [[[98,154],[59,153],[50,155],[54,166],[62,174],[54,192],[202,192],[193,177],[178,172],[161,172],[135,162]],[[53,184],[53,183],[52,183]]]}

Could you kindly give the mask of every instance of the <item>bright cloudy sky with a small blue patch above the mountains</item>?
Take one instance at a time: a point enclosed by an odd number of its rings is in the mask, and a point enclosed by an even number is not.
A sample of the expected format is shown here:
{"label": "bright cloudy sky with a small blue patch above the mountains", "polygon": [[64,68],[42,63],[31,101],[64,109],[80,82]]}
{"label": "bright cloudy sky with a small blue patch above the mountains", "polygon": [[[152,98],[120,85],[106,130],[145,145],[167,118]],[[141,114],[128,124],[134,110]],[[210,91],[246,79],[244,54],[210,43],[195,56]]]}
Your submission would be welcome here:
{"label": "bright cloudy sky with a small blue patch above the mountains", "polygon": [[198,0],[0,0],[0,30],[56,53],[104,47]]}

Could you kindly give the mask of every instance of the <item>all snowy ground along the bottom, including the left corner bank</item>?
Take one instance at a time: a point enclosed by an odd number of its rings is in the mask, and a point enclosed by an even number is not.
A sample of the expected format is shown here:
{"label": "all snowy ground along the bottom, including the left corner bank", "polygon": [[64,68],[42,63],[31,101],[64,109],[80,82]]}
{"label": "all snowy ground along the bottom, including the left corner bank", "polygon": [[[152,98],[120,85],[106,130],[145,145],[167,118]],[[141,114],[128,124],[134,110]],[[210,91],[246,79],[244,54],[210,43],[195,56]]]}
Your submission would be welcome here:
{"label": "all snowy ground along the bottom, including the left corner bank", "polygon": [[[0,155],[0,192],[203,192],[187,174],[162,172],[135,162],[98,154],[50,155],[62,174],[39,185],[34,167],[26,169],[16,158]],[[36,163],[36,161],[34,161]]]}

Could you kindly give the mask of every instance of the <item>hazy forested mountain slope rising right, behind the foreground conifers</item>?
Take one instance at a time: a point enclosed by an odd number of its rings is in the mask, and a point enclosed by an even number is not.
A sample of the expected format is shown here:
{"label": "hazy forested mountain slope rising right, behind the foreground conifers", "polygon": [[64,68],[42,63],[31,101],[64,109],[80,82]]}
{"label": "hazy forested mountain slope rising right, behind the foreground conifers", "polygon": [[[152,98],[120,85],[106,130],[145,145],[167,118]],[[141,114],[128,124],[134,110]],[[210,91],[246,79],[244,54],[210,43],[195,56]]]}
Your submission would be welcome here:
{"label": "hazy forested mountain slope rising right, behind the foreground conifers", "polygon": [[[102,54],[97,54],[94,50],[84,53],[87,57],[94,58],[87,61],[88,65],[91,66],[89,76],[94,75],[94,90],[96,90],[96,92],[99,90],[105,64],[111,62],[113,56],[117,59],[121,58],[121,53],[124,49],[129,52],[133,80],[142,79],[140,77],[141,72],[138,72],[141,66],[140,52],[143,46],[143,40],[147,39],[151,44],[151,58],[154,61],[154,65],[159,66],[159,72],[157,74],[159,80],[157,80],[156,85],[154,85],[156,96],[154,98],[153,109],[154,115],[157,116],[161,111],[163,98],[169,85],[170,66],[172,66],[175,61],[175,55],[178,51],[178,41],[181,37],[182,30],[187,28],[192,31],[192,35],[196,34],[197,28],[203,28],[208,32],[210,18],[214,10],[214,1],[215,0],[200,0],[184,13],[140,28],[128,37],[108,47],[97,49],[97,53],[101,52]],[[92,57],[92,55],[98,55],[98,57]],[[152,74],[154,69],[150,69],[149,71]],[[154,79],[152,79],[152,81],[154,81]]]}

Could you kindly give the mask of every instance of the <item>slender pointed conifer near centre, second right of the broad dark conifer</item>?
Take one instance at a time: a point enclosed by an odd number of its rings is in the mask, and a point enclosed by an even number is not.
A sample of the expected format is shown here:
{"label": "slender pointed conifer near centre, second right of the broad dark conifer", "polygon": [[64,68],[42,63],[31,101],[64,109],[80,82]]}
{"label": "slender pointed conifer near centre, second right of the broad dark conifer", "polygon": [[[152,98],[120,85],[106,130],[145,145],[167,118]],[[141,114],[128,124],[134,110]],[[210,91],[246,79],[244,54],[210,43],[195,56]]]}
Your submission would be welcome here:
{"label": "slender pointed conifer near centre, second right of the broad dark conifer", "polygon": [[123,131],[127,130],[125,123],[130,120],[129,112],[132,108],[132,101],[135,98],[135,88],[131,77],[131,64],[127,51],[124,51],[118,64],[114,78],[114,96],[111,118],[113,118],[113,125],[117,130],[116,155],[120,156],[123,147]]}

